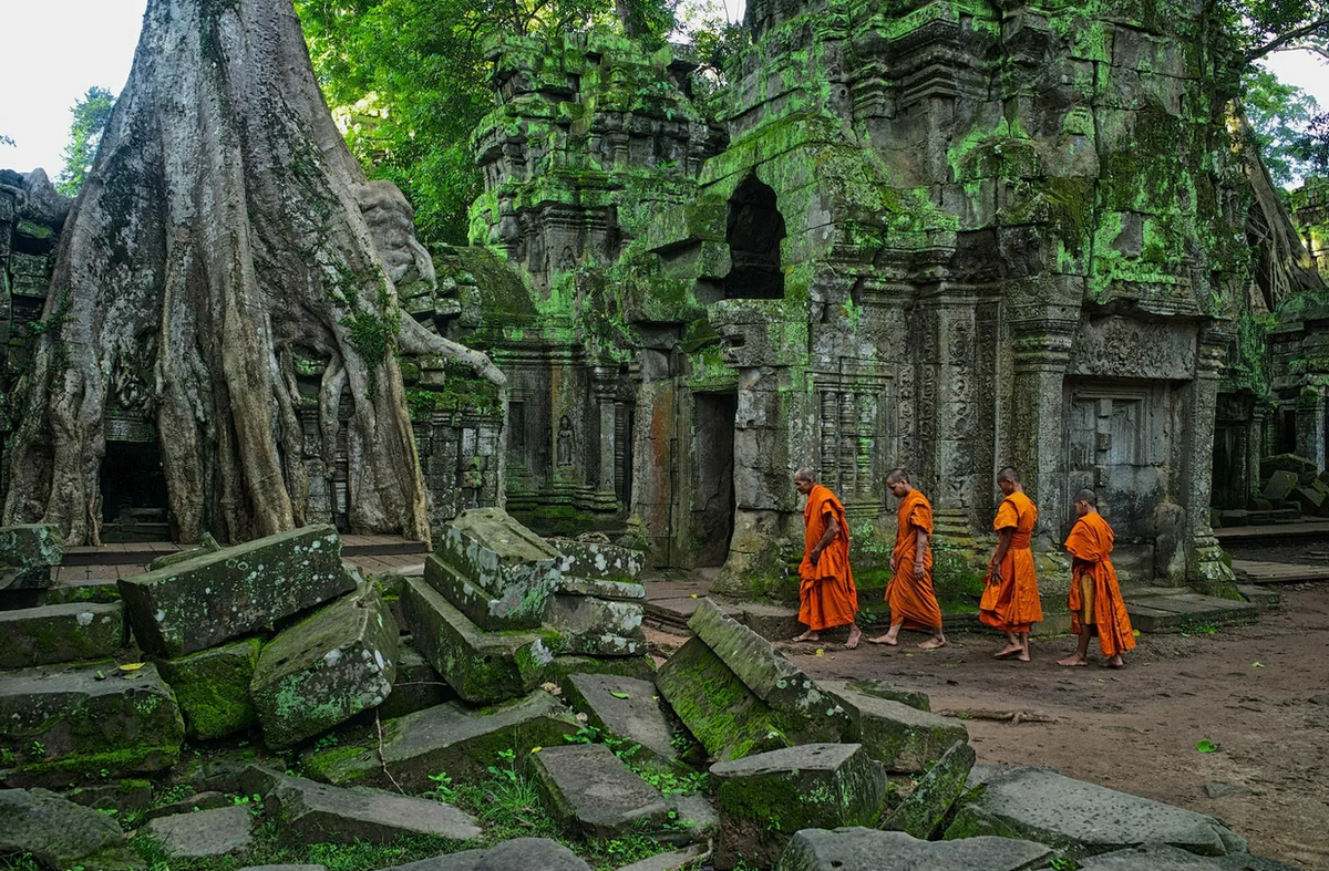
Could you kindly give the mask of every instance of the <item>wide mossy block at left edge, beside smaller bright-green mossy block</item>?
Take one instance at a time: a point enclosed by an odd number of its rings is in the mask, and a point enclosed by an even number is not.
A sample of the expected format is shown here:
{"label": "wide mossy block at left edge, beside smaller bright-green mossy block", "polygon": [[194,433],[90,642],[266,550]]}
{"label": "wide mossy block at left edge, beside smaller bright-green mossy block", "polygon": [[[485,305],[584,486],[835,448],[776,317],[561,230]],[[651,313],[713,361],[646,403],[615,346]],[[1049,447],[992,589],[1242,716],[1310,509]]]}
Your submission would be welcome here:
{"label": "wide mossy block at left edge, beside smaller bright-green mossy block", "polygon": [[0,754],[12,785],[68,785],[170,767],[185,724],[152,663],[0,673]]}

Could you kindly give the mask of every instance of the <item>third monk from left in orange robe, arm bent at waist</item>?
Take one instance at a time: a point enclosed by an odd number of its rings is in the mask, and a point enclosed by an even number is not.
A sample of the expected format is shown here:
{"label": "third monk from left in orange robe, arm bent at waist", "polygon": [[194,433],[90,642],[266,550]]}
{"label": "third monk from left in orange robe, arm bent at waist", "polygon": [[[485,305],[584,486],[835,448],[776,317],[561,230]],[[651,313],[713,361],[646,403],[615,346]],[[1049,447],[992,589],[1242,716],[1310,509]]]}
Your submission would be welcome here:
{"label": "third monk from left in orange robe, arm bent at waist", "polygon": [[1029,550],[1038,507],[1025,495],[1019,473],[1010,466],[997,473],[997,486],[1006,495],[997,509],[993,530],[999,536],[987,564],[987,587],[978,604],[978,619],[1006,633],[1006,647],[997,659],[1014,656],[1029,661],[1029,631],[1043,619],[1034,575],[1034,554]]}

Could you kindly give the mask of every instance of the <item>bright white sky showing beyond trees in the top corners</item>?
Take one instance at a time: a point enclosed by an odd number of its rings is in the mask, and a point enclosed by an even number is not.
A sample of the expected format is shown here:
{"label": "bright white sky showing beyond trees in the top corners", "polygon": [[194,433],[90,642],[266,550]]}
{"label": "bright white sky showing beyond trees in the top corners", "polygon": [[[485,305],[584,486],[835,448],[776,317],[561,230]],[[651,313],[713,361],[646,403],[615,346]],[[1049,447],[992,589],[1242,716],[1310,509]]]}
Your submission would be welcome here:
{"label": "bright white sky showing beyond trees in the top corners", "polygon": [[[92,86],[118,94],[129,78],[148,0],[0,0],[0,167],[54,177],[69,109]],[[742,0],[726,5],[742,7]],[[1329,66],[1308,53],[1276,54],[1271,69],[1329,109]]]}

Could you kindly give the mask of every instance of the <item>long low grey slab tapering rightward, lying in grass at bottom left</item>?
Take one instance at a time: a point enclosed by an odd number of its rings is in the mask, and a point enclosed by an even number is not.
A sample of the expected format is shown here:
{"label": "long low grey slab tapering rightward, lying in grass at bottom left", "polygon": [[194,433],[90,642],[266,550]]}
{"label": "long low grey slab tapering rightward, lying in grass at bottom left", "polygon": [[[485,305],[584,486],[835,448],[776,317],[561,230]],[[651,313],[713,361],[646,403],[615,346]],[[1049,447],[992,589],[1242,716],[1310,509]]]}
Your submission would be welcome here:
{"label": "long low grey slab tapering rightward, lying in grass at bottom left", "polygon": [[400,835],[452,840],[480,836],[480,826],[452,805],[369,789],[340,789],[274,774],[266,809],[283,843],[388,843]]}

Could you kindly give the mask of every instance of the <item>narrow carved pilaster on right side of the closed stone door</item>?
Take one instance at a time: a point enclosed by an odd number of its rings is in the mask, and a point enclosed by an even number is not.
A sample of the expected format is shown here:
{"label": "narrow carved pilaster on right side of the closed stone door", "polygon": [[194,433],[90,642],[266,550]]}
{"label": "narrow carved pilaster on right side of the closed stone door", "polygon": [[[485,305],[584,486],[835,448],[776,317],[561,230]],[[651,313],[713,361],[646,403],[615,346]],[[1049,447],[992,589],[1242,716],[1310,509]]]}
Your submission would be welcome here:
{"label": "narrow carved pilaster on right side of the closed stone door", "polygon": [[1213,591],[1233,580],[1232,570],[1223,562],[1223,548],[1209,524],[1209,495],[1213,486],[1213,421],[1219,404],[1219,376],[1227,357],[1231,336],[1220,325],[1199,331],[1195,381],[1191,402],[1185,409],[1185,519],[1191,534],[1187,548],[1187,575],[1191,586]]}

